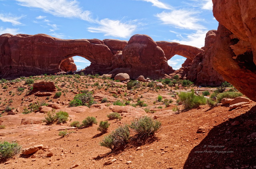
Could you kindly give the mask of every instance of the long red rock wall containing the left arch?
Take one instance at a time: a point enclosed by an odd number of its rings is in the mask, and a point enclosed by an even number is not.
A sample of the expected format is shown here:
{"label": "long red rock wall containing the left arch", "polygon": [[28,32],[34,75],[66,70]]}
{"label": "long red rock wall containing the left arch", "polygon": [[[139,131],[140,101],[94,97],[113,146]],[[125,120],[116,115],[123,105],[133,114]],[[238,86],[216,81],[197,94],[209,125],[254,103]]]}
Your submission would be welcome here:
{"label": "long red rock wall containing the left arch", "polygon": [[[64,40],[45,34],[0,36],[2,77],[56,73],[60,64],[72,56],[88,59],[94,67],[111,65],[113,53],[97,39]],[[107,72],[107,70],[106,70]]]}

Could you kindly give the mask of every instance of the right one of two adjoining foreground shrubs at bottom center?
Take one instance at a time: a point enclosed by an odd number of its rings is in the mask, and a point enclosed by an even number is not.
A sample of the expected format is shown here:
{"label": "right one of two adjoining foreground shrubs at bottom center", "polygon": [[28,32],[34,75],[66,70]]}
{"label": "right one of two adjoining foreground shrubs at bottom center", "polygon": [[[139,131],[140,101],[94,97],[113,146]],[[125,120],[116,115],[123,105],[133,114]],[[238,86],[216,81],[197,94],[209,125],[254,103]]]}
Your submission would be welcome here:
{"label": "right one of two adjoining foreground shrubs at bottom center", "polygon": [[132,128],[140,137],[148,137],[154,135],[161,127],[161,122],[154,120],[148,116],[132,121],[130,128]]}

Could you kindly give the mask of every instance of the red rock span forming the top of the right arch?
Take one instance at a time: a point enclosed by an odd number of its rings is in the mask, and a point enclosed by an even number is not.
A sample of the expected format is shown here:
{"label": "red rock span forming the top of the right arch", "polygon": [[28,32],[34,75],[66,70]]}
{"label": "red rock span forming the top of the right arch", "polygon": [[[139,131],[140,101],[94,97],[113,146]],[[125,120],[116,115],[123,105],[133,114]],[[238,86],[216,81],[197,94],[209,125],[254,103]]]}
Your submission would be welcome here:
{"label": "red rock span forming the top of the right arch", "polygon": [[167,60],[171,59],[174,55],[181,55],[193,60],[198,53],[202,53],[204,51],[203,49],[189,45],[182,45],[177,42],[156,41],[156,44],[163,49]]}

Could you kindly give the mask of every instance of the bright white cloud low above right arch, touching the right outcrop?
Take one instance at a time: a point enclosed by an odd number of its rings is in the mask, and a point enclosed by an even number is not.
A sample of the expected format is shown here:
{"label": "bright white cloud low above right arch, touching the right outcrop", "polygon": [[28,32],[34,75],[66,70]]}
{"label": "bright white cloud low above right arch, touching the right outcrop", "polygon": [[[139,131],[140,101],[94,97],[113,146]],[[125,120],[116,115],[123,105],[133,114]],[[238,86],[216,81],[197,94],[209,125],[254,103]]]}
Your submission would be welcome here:
{"label": "bright white cloud low above right arch, touching the right outcrop", "polygon": [[204,39],[206,37],[206,33],[207,31],[198,30],[196,33],[187,35],[186,38],[183,38],[182,40],[173,39],[169,41],[201,48],[204,47]]}

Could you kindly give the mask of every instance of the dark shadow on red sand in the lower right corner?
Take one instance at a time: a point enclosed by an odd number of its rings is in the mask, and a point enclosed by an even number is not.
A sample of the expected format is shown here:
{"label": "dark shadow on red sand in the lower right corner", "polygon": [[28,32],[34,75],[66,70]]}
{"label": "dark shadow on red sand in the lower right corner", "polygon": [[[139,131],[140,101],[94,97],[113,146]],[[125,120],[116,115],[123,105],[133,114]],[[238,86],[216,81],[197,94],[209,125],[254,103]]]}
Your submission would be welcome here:
{"label": "dark shadow on red sand in the lower right corner", "polygon": [[[238,121],[240,124],[232,126]],[[234,123],[233,123],[234,125]],[[184,169],[256,168],[256,106],[215,126],[188,155]]]}

